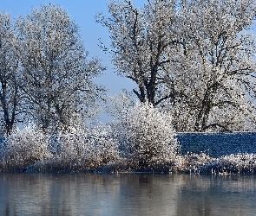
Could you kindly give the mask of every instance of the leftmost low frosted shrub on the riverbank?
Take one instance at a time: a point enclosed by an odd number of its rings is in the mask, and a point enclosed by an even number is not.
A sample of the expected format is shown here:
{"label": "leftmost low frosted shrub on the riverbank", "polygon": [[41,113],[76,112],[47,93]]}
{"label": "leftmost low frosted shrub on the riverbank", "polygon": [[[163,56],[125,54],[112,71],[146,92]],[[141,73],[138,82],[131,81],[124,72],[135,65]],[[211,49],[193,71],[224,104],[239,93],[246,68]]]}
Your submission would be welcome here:
{"label": "leftmost low frosted shrub on the riverbank", "polygon": [[5,139],[7,144],[3,149],[2,168],[26,168],[51,155],[48,150],[49,137],[36,126],[16,130]]}

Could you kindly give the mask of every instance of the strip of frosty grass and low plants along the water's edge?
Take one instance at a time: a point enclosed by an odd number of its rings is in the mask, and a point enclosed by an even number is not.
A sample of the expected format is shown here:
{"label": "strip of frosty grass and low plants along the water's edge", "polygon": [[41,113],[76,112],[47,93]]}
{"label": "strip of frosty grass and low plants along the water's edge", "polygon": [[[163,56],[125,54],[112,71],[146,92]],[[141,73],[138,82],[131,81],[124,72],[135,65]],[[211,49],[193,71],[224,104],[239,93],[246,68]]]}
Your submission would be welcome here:
{"label": "strip of frosty grass and low plants along the water's edge", "polygon": [[26,166],[15,166],[10,162],[0,163],[2,172],[29,172],[29,173],[185,173],[206,175],[254,175],[256,174],[256,155],[237,154],[213,158],[205,153],[188,153],[185,156],[176,156],[173,162],[142,164],[128,159],[119,159],[114,162],[82,162],[73,160],[63,162],[57,158],[45,159],[27,163]]}

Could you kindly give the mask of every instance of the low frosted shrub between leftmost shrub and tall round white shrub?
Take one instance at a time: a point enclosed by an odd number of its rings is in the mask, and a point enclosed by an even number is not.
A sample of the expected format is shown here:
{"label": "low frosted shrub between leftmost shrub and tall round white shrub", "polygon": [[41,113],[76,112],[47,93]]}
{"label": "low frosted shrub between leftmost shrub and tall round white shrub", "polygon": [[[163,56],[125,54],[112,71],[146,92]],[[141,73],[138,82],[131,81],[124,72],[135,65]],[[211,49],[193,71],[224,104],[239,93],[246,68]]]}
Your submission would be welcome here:
{"label": "low frosted shrub between leftmost shrub and tall round white shrub", "polygon": [[95,126],[91,129],[73,128],[69,133],[56,137],[60,154],[52,165],[56,168],[84,170],[100,168],[119,158],[118,143],[112,137],[110,127]]}

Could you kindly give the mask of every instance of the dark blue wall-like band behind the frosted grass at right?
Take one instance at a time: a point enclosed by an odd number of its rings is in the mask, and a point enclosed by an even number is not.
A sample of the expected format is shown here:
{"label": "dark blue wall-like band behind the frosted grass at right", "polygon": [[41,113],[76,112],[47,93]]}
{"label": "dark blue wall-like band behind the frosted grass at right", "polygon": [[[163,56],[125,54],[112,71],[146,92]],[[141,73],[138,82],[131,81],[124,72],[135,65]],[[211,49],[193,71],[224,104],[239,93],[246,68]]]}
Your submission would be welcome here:
{"label": "dark blue wall-like band behind the frosted grass at right", "polygon": [[256,154],[256,133],[181,133],[177,135],[181,143],[181,154],[205,152],[219,157],[238,153]]}

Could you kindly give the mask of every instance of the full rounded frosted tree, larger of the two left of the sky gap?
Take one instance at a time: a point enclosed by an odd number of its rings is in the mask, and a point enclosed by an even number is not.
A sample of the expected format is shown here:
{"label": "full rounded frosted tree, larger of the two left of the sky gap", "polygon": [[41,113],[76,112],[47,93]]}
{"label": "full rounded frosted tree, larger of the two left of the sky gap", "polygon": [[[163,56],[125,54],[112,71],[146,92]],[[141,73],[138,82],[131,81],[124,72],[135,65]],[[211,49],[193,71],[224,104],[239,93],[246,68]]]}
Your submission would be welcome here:
{"label": "full rounded frosted tree, larger of the two left of the sky gap", "polygon": [[89,60],[78,27],[55,4],[43,5],[16,22],[22,66],[21,85],[30,116],[43,130],[66,129],[94,114],[102,94],[93,79],[104,69]]}

